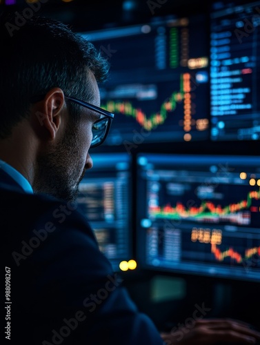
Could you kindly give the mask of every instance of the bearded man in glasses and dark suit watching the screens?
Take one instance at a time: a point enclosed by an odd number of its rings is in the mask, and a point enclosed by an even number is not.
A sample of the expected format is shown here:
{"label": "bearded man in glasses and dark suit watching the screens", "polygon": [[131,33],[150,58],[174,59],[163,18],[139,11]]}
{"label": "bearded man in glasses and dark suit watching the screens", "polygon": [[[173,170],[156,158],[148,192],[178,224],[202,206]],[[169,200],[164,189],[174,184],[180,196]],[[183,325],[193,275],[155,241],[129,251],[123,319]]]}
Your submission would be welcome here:
{"label": "bearded man in glasses and dark suit watching the screens", "polygon": [[[11,344],[247,344],[233,320],[199,320],[181,341],[131,301],[73,202],[113,115],[99,108],[108,63],[62,23],[1,21],[1,260]],[[79,101],[82,100],[82,101]],[[88,102],[88,103],[86,103]],[[3,272],[3,269],[2,269]],[[3,273],[2,273],[3,274]]]}

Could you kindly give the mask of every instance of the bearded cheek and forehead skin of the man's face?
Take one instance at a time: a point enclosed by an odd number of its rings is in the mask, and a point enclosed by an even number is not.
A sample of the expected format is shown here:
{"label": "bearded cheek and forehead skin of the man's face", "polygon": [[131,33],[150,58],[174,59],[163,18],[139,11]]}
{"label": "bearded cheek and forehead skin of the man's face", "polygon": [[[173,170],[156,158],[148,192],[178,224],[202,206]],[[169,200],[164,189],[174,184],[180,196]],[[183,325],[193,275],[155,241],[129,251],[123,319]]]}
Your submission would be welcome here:
{"label": "bearded cheek and forehead skin of the man's face", "polygon": [[[99,88],[92,73],[90,88],[92,103],[99,106]],[[35,192],[47,193],[66,201],[76,199],[79,182],[86,170],[92,168],[88,150],[92,140],[92,124],[98,119],[98,115],[91,110],[82,107],[81,111],[79,124],[73,124],[68,115],[68,123],[59,142],[39,157],[32,186]]]}

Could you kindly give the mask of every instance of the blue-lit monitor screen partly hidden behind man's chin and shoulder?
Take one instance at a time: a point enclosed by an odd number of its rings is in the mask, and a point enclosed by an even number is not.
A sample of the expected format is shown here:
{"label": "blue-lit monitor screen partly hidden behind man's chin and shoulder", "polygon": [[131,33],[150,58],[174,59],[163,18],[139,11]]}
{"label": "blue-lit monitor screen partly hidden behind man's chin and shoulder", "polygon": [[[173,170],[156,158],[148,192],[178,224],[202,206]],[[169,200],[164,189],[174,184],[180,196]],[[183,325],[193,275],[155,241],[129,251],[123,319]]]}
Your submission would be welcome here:
{"label": "blue-lit monitor screen partly hidden behind man's chin and shoulder", "polygon": [[77,203],[86,215],[114,270],[132,259],[131,157],[127,153],[95,153],[93,168],[79,184]]}

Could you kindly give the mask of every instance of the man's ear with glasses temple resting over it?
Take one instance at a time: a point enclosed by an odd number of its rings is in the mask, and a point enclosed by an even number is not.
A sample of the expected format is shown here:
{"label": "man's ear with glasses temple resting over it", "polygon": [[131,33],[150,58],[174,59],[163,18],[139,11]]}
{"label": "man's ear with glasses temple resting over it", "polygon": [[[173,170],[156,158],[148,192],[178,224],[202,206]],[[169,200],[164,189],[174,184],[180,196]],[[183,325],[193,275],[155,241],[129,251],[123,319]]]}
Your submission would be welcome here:
{"label": "man's ear with glasses temple resting over it", "polygon": [[44,133],[44,136],[47,135],[51,140],[56,138],[63,119],[61,115],[64,104],[65,97],[60,88],[52,88],[42,101],[34,104],[32,112],[39,121],[39,124],[36,124],[38,125],[37,132],[41,132],[41,135]]}

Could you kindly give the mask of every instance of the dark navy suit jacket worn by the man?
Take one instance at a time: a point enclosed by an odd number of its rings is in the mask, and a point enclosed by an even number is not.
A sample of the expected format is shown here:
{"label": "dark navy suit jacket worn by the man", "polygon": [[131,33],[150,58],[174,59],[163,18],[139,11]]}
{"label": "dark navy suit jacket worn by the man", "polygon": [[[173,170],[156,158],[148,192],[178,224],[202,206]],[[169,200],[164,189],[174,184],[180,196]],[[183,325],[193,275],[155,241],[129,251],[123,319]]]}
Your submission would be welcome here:
{"label": "dark navy suit jacket worn by the man", "polygon": [[76,206],[26,194],[0,169],[7,344],[163,344]]}

